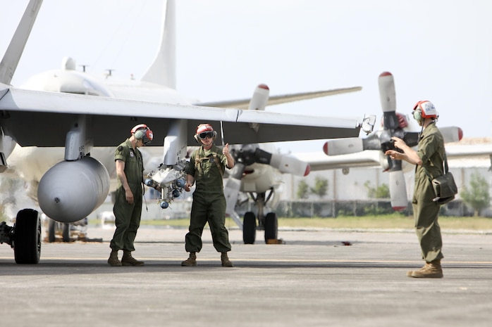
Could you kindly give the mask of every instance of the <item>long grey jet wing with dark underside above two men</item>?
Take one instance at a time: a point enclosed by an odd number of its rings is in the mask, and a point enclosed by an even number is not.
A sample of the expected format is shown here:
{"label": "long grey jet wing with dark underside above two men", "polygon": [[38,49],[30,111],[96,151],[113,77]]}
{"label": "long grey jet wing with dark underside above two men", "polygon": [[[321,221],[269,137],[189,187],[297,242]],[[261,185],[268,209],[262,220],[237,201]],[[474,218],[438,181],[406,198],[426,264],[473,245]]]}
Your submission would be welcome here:
{"label": "long grey jet wing with dark underside above two men", "polygon": [[[5,84],[0,84],[0,96],[4,133],[20,146],[64,146],[71,124],[80,115],[90,117],[94,146],[118,144],[128,136],[128,128],[138,123],[152,127],[152,146],[162,146],[172,120],[188,121],[188,146],[196,144],[192,136],[197,125],[204,121],[217,130],[223,122],[224,141],[231,144],[354,137],[360,129],[356,118],[152,103],[30,91]],[[250,123],[260,124],[257,132]],[[218,141],[222,141],[220,136]]]}

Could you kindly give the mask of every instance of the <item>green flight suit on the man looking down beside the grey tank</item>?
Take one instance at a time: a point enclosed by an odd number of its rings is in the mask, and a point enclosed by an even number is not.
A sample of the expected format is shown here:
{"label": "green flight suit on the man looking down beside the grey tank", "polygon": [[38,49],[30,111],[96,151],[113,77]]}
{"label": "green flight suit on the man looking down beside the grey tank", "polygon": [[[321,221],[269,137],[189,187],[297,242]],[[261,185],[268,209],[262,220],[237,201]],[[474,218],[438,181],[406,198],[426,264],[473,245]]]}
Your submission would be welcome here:
{"label": "green flight suit on the man looking down beside the grey tank", "polygon": [[135,241],[135,236],[137,236],[142,214],[144,162],[142,153],[137,148],[133,148],[129,139],[126,139],[116,148],[114,160],[123,160],[125,162],[124,171],[128,186],[130,186],[133,193],[133,204],[128,203],[126,200],[125,189],[118,179],[116,200],[113,206],[116,230],[110,247],[112,250],[134,251],[133,242]]}

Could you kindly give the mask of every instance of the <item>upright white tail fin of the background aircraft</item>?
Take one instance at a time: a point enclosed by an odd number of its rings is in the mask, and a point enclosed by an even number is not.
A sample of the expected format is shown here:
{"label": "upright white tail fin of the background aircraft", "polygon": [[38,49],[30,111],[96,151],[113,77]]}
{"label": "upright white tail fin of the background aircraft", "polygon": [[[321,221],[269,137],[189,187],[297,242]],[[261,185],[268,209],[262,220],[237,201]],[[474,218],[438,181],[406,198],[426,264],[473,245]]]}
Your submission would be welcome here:
{"label": "upright white tail fin of the background aircraft", "polygon": [[154,63],[142,81],[176,89],[176,17],[175,1],[166,0],[163,10],[161,44]]}

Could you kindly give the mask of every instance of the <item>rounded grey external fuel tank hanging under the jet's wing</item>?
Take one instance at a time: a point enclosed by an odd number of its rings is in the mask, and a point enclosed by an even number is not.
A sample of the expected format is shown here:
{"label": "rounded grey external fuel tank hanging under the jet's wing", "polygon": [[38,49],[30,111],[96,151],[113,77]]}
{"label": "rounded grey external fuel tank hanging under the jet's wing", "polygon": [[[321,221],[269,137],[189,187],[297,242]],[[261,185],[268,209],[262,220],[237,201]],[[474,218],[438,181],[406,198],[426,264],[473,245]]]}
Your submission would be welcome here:
{"label": "rounded grey external fuel tank hanging under the jet's wing", "polygon": [[57,222],[77,222],[102,205],[109,193],[109,174],[92,157],[62,161],[39,181],[37,199],[42,212]]}

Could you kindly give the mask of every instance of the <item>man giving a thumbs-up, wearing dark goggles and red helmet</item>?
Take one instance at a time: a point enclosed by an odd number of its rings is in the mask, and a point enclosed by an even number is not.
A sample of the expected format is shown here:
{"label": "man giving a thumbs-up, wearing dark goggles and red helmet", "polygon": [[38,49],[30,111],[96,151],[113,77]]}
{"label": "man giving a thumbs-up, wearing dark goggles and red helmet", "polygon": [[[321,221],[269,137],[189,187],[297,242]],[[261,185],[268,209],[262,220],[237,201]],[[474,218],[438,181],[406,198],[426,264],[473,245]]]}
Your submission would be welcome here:
{"label": "man giving a thumbs-up, wearing dark goggles and red helmet", "polygon": [[221,252],[222,267],[233,267],[227,252],[230,251],[229,234],[226,229],[226,198],[223,193],[223,172],[234,167],[234,158],[228,144],[222,149],[214,144],[217,132],[210,124],[199,124],[195,140],[201,144],[191,157],[186,172],[185,191],[189,192],[196,182],[190,214],[190,227],[185,236],[185,249],[190,257],[181,266],[195,267],[197,252],[202,250],[202,232],[209,223],[214,248]]}

